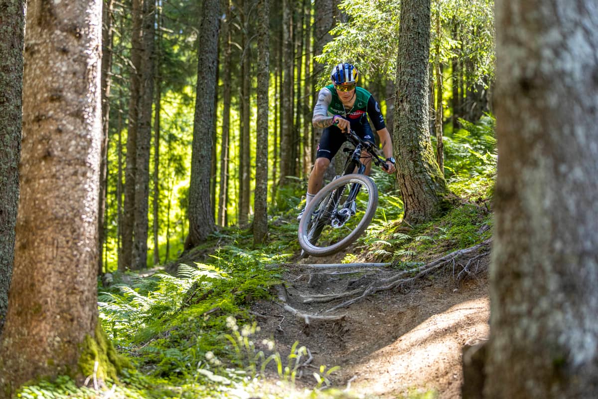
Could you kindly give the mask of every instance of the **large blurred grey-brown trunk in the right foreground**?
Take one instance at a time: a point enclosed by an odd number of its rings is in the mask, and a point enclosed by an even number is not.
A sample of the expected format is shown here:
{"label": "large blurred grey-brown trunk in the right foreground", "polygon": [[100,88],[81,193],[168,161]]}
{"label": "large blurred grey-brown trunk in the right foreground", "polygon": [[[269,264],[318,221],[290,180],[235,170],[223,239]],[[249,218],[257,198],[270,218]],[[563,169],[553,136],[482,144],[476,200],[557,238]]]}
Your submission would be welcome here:
{"label": "large blurred grey-brown trunk in the right foreground", "polygon": [[594,11],[588,0],[496,2],[488,398],[598,397]]}

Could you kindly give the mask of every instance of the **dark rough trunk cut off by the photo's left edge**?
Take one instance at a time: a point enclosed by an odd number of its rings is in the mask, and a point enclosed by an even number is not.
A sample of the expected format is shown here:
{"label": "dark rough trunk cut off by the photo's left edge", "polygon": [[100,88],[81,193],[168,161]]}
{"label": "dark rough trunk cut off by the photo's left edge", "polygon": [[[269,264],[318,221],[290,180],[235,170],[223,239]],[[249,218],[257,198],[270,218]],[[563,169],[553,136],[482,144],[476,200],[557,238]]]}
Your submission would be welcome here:
{"label": "dark rough trunk cut off by the photo's left edge", "polygon": [[14,228],[19,206],[19,160],[21,155],[23,29],[25,2],[11,0],[0,5],[0,335],[8,305],[13,273]]}

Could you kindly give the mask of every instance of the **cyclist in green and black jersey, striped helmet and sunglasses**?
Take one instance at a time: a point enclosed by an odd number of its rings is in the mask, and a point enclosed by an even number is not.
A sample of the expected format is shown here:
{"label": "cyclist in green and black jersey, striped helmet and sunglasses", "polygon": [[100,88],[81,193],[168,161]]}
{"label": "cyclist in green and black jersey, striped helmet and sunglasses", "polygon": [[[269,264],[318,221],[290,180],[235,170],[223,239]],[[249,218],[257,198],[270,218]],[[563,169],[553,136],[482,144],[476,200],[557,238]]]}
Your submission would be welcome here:
{"label": "cyclist in green and black jersey, striped helmet and sunglasses", "polygon": [[[365,89],[357,87],[359,72],[350,63],[340,63],[332,68],[330,78],[332,84],[322,88],[318,94],[318,102],[313,108],[312,124],[324,129],[318,144],[316,162],[307,182],[305,206],[318,194],[324,181],[324,172],[341,145],[346,141],[345,133],[353,130],[364,141],[375,143],[374,134],[368,122],[368,115],[382,144],[382,151],[386,157],[387,173],[395,172],[395,159],[392,157],[392,140],[386,129],[384,118],[380,113],[380,105]],[[370,174],[370,155],[365,152],[362,156],[366,174]],[[303,211],[297,220],[301,220]]]}

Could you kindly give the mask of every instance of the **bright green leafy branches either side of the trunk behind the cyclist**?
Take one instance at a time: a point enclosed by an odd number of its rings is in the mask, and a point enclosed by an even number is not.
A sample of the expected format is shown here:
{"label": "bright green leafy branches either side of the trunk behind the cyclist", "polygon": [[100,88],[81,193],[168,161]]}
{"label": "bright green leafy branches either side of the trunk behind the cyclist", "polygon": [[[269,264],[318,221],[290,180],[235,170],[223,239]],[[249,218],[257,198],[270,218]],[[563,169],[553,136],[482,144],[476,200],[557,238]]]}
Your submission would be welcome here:
{"label": "bright green leafy branches either side of the trunk behind the cyclist", "polygon": [[[399,0],[345,0],[339,8],[348,21],[338,23],[331,33],[334,39],[324,47],[319,62],[334,65],[340,61],[355,65],[387,78],[395,77],[400,22]],[[441,36],[435,23],[431,24],[430,60],[438,59],[448,65],[453,58],[468,63],[466,78],[471,84],[486,84],[484,77],[494,69],[494,3],[490,0],[435,0],[432,2],[432,21],[440,12]],[[454,37],[453,29],[458,32]],[[440,41],[440,54],[435,42]],[[389,54],[392,54],[389,56]],[[325,69],[325,72],[328,68]],[[321,82],[327,76],[321,77]]]}

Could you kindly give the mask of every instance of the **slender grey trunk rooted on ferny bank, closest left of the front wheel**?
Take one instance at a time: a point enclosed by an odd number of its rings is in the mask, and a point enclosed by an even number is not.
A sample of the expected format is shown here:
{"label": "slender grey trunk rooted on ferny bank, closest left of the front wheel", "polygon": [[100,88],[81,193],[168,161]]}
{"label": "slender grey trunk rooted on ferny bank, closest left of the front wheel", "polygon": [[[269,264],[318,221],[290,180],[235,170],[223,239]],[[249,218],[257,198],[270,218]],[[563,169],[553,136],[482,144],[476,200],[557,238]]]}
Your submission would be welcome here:
{"label": "slender grey trunk rooted on ferny bank, closest left of the front wheel", "polygon": [[270,83],[269,0],[258,0],[257,140],[255,146],[254,244],[268,233],[268,89]]}

